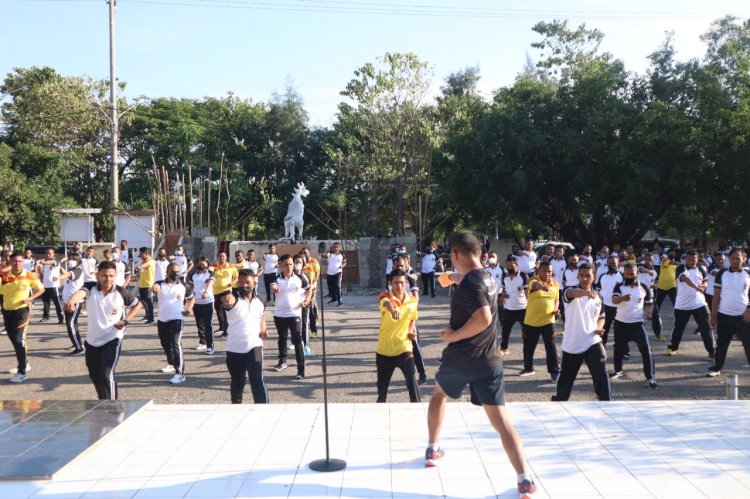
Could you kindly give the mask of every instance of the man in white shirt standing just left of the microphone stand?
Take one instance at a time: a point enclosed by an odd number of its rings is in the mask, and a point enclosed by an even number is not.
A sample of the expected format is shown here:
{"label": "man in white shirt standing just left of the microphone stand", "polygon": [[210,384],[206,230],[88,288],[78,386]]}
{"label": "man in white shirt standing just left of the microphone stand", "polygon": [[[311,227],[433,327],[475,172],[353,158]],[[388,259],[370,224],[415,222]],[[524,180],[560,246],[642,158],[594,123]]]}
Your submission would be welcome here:
{"label": "man in white shirt standing just left of the microphone stand", "polygon": [[273,322],[279,333],[279,363],[274,368],[283,371],[287,368],[287,340],[292,336],[294,355],[297,360],[297,376],[305,379],[305,351],[302,345],[302,307],[310,303],[310,281],[305,274],[294,271],[294,260],[290,255],[279,258],[281,275],[271,286],[276,295],[276,307],[273,311]]}

